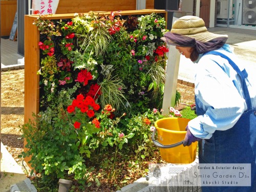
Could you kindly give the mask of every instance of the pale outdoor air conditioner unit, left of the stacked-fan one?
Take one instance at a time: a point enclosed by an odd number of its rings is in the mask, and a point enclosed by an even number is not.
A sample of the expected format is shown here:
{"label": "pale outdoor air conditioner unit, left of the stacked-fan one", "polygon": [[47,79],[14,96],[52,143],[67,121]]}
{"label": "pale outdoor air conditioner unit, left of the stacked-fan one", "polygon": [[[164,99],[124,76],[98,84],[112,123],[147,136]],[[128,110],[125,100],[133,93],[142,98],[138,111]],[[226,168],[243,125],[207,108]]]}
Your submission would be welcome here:
{"label": "pale outdoor air conditioner unit, left of the stacked-fan one", "polygon": [[[233,17],[232,1],[229,3],[229,18]],[[218,0],[217,2],[217,18],[228,18],[228,0]]]}

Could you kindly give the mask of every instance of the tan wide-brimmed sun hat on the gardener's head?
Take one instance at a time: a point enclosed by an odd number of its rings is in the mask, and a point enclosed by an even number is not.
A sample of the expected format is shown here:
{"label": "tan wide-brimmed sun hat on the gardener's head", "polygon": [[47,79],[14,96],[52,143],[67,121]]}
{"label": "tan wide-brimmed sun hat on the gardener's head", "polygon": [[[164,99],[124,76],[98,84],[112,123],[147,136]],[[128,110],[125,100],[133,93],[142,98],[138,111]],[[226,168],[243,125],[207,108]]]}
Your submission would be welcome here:
{"label": "tan wide-brimmed sun hat on the gardener's head", "polygon": [[175,44],[168,38],[168,36],[173,36],[175,34],[194,38],[201,42],[208,42],[218,37],[228,38],[227,35],[219,35],[208,32],[207,28],[205,27],[204,20],[200,17],[191,15],[183,16],[175,20],[170,32],[165,33],[164,37],[161,39],[168,44]]}

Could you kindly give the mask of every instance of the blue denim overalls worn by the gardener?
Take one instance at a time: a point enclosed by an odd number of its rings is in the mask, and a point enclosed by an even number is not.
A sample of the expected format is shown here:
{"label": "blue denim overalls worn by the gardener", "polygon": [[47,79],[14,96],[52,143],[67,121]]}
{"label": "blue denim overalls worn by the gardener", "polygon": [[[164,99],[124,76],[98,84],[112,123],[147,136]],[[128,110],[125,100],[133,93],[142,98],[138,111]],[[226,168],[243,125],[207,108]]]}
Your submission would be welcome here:
{"label": "blue denim overalls worn by the gardener", "polygon": [[[215,131],[210,139],[202,139],[199,142],[199,163],[251,163],[251,187],[202,187],[202,191],[256,191],[256,108],[252,108],[245,82],[248,74],[245,70],[241,72],[230,58],[220,52],[210,51],[204,55],[206,54],[226,58],[239,74],[245,93],[247,111],[231,129]],[[197,105],[197,98],[196,110],[198,116],[205,114],[205,111]]]}

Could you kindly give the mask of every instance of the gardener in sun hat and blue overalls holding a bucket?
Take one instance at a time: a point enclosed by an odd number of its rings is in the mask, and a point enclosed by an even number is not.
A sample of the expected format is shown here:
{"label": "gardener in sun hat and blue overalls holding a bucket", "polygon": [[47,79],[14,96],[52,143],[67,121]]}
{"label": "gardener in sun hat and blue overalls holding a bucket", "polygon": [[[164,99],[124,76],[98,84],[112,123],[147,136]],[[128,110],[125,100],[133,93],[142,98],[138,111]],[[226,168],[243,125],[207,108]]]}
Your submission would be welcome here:
{"label": "gardener in sun hat and blue overalls holding a bucket", "polygon": [[199,163],[250,163],[251,186],[203,186],[202,191],[256,191],[256,75],[239,63],[228,36],[207,31],[202,18],[178,18],[162,40],[198,63],[197,117],[184,146],[199,141]]}

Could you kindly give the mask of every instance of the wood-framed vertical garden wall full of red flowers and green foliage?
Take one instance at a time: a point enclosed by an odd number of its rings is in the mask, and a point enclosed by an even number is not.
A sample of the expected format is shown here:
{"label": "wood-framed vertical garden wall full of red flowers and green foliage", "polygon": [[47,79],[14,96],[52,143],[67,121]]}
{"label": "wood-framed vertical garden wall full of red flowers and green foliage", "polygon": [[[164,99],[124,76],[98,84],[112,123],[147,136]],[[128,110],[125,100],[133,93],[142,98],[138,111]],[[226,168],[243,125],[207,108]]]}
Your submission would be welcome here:
{"label": "wood-framed vertical garden wall full of red flowers and green foliage", "polygon": [[154,156],[165,32],[164,10],[25,16],[23,157],[36,172],[83,180],[96,164],[114,173],[117,154]]}

